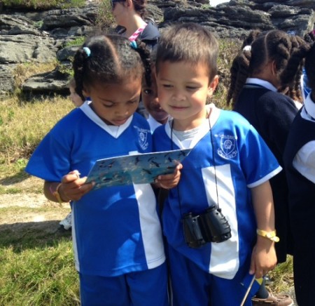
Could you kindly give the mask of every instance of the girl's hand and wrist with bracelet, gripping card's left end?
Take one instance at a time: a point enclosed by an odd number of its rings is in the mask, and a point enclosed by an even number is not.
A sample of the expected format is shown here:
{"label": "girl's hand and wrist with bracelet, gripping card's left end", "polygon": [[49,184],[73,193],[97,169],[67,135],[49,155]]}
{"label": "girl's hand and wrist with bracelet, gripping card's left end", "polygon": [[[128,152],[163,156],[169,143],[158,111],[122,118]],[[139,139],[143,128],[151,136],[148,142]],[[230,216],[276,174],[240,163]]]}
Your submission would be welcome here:
{"label": "girl's hand and wrist with bracelet, gripping card's left end", "polygon": [[45,197],[50,201],[59,203],[78,201],[93,187],[92,183],[85,184],[85,180],[86,177],[80,178],[79,173],[76,170],[64,175],[61,182],[48,182],[47,180],[45,180]]}

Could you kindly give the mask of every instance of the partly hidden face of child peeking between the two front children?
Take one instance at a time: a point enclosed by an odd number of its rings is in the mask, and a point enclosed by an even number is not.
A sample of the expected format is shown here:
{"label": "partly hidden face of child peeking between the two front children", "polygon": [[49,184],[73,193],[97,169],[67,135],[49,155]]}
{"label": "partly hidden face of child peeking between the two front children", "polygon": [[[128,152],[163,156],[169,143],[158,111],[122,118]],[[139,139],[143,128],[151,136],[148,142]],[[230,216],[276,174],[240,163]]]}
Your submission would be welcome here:
{"label": "partly hidden face of child peeking between the two front children", "polygon": [[142,82],[141,97],[148,113],[151,114],[156,121],[160,122],[160,124],[165,124],[169,114],[167,114],[167,112],[160,106],[155,73],[151,75],[151,86],[146,84],[145,79]]}

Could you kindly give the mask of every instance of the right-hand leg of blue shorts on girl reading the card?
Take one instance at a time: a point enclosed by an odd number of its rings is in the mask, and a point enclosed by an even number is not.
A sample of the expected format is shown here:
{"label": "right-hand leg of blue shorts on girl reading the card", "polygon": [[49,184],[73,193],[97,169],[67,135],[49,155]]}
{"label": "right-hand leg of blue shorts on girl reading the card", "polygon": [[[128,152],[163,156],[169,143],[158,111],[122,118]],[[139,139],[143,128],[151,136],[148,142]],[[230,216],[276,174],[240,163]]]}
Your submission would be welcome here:
{"label": "right-hand leg of blue shorts on girl reading the card", "polygon": [[132,305],[167,306],[167,266],[126,274]]}

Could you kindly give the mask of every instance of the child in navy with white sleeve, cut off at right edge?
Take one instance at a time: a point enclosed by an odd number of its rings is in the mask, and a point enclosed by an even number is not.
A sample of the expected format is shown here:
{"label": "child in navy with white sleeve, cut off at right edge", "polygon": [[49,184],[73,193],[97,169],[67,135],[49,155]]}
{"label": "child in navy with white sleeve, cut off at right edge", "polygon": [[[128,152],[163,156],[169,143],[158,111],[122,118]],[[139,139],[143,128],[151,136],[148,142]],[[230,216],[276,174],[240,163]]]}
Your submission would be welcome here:
{"label": "child in navy with white sleeve, cut off at right edge", "polygon": [[311,89],[288,134],[284,163],[294,238],[293,273],[297,304],[315,305],[315,44],[305,59]]}

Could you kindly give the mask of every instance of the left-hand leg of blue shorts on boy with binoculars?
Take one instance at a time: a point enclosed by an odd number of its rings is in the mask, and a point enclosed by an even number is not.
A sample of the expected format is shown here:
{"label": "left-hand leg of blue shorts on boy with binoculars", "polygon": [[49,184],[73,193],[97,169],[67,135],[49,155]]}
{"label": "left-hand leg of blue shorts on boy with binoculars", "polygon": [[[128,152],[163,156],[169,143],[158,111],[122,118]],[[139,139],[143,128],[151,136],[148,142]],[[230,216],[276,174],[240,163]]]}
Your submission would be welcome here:
{"label": "left-hand leg of blue shorts on boy with binoculars", "polygon": [[169,246],[173,305],[209,305],[210,274]]}

